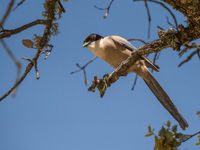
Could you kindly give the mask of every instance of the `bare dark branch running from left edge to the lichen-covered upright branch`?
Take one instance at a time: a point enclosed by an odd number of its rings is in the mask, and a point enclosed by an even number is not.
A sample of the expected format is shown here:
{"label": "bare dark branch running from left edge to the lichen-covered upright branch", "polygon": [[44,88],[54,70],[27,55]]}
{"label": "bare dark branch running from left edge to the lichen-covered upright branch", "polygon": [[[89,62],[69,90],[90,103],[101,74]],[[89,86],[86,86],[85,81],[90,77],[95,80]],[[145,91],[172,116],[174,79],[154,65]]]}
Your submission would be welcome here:
{"label": "bare dark branch running from left edge to the lichen-covered upright branch", "polygon": [[22,32],[22,31],[24,31],[24,30],[30,28],[30,27],[33,27],[33,26],[35,26],[35,25],[37,25],[37,24],[46,24],[46,23],[47,23],[47,20],[37,19],[37,20],[35,20],[35,21],[33,21],[33,22],[30,22],[30,23],[28,23],[28,24],[25,24],[25,25],[23,25],[23,26],[21,26],[21,27],[19,27],[19,28],[16,28],[16,29],[12,29],[12,30],[2,30],[2,31],[1,31],[2,33],[0,32],[0,39],[6,38],[6,37],[10,37],[10,36],[12,36],[12,35],[15,35],[15,34],[17,34],[17,33],[19,33],[19,32]]}

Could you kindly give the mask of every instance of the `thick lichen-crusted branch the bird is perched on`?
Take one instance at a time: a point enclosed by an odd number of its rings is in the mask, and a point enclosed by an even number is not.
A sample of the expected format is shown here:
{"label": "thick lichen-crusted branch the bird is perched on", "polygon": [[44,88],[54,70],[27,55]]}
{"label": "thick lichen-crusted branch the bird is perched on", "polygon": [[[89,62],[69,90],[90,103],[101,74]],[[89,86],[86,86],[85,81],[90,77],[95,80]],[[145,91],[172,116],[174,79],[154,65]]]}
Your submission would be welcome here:
{"label": "thick lichen-crusted branch the bird is perched on", "polygon": [[180,46],[184,45],[184,43],[200,38],[199,26],[188,26],[187,28],[183,28],[182,26],[180,27],[181,31],[175,31],[172,29],[169,29],[168,31],[160,30],[158,32],[160,39],[141,46],[133,51],[131,56],[123,61],[110,75],[105,75],[103,79],[94,77],[94,81],[88,90],[94,92],[95,88],[98,88],[100,96],[103,97],[107,87],[116,82],[120,76],[126,76],[127,70],[137,61],[141,55],[159,52],[162,49],[168,47],[172,47],[173,49],[179,51]]}

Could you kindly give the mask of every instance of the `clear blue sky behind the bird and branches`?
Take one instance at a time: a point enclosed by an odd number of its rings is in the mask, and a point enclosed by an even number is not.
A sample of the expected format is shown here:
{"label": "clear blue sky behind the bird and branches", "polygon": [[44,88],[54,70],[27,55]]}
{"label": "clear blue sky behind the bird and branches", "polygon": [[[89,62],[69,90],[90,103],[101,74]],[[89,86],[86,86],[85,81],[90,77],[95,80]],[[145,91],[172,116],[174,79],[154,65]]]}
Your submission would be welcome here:
{"label": "clear blue sky behind the bird and branches", "polygon": [[[19,0],[18,0],[19,2]],[[25,1],[12,12],[5,29],[13,29],[35,19],[42,18],[43,1]],[[0,5],[0,17],[8,1]],[[108,1],[74,1],[63,3],[66,13],[59,20],[58,36],[50,44],[53,52],[47,60],[38,62],[40,80],[32,70],[17,90],[16,97],[8,96],[0,103],[0,149],[1,150],[147,150],[153,149],[153,137],[146,138],[147,126],[160,129],[163,122],[177,122],[160,105],[143,80],[139,79],[134,91],[131,86],[134,74],[122,77],[110,87],[104,98],[99,93],[88,92],[83,73],[70,75],[76,70],[75,63],[84,64],[93,57],[81,47],[90,33],[103,36],[120,35],[124,38],[141,38],[153,41],[158,38],[157,25],[168,29],[166,16],[169,13],[160,6],[150,4],[152,17],[151,38],[147,39],[147,14],[143,2],[115,1],[107,19],[104,11],[93,7],[107,6]],[[185,18],[174,12],[178,23]],[[172,18],[169,17],[172,21]],[[5,39],[10,49],[23,64],[22,57],[34,56],[35,50],[27,49],[23,39],[31,39],[34,33],[42,34],[43,26],[36,26],[11,38]],[[136,47],[141,43],[133,42]],[[14,83],[16,68],[0,45],[0,94]],[[186,57],[186,56],[185,56]],[[150,57],[152,58],[152,57]],[[200,110],[200,62],[195,56],[189,63],[178,68],[183,58],[172,49],[165,49],[157,64],[159,73],[154,73],[174,104],[186,118],[192,134],[200,128],[196,112]],[[94,75],[102,77],[113,69],[97,59],[87,67],[89,83]],[[180,129],[180,128],[179,128]],[[197,137],[184,143],[180,149],[197,150]]]}

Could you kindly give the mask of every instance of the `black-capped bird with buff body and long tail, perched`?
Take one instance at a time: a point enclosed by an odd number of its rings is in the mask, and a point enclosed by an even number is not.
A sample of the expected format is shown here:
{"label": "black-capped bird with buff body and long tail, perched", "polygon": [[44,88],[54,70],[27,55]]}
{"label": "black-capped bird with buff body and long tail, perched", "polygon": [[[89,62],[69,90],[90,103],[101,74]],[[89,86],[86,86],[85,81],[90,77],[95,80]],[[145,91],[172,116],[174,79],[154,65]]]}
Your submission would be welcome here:
{"label": "black-capped bird with buff body and long tail, perched", "polygon": [[[103,59],[113,68],[117,68],[121,62],[126,60],[131,55],[132,51],[136,49],[128,40],[120,36],[111,35],[103,37],[95,33],[88,35],[84,39],[82,47],[87,47],[94,55]],[[135,64],[127,70],[127,73],[136,73],[139,75],[164,108],[174,117],[181,128],[185,130],[188,127],[187,121],[179,113],[168,94],[149,72],[148,68],[157,72],[159,71],[159,66],[142,55]]]}

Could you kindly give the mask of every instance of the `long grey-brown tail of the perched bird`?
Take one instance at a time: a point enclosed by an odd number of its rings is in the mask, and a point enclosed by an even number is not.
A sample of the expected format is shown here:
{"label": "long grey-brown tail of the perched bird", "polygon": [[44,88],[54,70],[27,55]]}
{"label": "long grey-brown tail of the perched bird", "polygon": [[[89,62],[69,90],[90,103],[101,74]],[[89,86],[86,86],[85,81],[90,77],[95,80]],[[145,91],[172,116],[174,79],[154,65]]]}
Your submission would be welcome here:
{"label": "long grey-brown tail of the perched bird", "polygon": [[144,79],[145,83],[151,89],[153,94],[157,97],[160,103],[168,110],[168,112],[176,119],[183,130],[188,127],[187,121],[178,112],[176,106],[172,103],[167,93],[160,86],[158,81],[152,76],[150,72],[147,73]]}

